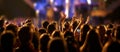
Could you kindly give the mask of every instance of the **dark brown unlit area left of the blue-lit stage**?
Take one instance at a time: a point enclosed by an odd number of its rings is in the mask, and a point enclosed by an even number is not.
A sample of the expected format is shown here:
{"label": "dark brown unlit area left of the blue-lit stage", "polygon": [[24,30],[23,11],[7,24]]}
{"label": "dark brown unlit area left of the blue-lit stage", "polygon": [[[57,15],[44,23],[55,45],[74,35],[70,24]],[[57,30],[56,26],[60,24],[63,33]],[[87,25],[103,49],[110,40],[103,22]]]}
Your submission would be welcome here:
{"label": "dark brown unlit area left of the blue-lit stage", "polygon": [[0,15],[6,15],[8,19],[35,17],[35,10],[23,0],[0,0],[0,2]]}

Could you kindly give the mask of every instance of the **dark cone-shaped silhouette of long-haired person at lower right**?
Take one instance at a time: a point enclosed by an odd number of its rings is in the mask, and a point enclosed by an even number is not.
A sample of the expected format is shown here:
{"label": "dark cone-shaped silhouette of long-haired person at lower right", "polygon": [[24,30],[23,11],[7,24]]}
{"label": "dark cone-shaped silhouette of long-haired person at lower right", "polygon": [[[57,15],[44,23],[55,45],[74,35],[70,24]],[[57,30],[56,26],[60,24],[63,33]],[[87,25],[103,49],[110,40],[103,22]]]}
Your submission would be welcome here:
{"label": "dark cone-shaped silhouette of long-haired person at lower right", "polygon": [[98,33],[92,29],[88,31],[84,44],[80,47],[80,52],[101,52],[102,43]]}

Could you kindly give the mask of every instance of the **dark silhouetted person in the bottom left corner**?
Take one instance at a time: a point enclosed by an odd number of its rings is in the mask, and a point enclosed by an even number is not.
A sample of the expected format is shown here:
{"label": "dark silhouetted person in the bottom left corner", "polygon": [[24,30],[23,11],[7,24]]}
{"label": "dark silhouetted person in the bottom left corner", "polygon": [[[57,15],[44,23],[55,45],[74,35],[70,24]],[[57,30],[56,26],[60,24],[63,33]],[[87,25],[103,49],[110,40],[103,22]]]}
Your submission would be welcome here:
{"label": "dark silhouetted person in the bottom left corner", "polygon": [[1,35],[1,52],[15,52],[15,34],[12,31],[5,31]]}

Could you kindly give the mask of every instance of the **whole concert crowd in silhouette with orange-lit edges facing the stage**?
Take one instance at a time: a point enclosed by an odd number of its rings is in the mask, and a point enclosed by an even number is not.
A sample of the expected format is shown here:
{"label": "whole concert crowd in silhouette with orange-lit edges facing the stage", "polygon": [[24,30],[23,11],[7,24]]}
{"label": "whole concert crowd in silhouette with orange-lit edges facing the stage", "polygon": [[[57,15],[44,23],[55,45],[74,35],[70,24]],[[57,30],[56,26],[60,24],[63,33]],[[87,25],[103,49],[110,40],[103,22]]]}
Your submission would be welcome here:
{"label": "whole concert crowd in silhouette with orange-lit edges facing the stage", "polygon": [[16,25],[1,17],[0,52],[120,52],[119,25],[93,26],[76,17],[41,25],[31,19]]}

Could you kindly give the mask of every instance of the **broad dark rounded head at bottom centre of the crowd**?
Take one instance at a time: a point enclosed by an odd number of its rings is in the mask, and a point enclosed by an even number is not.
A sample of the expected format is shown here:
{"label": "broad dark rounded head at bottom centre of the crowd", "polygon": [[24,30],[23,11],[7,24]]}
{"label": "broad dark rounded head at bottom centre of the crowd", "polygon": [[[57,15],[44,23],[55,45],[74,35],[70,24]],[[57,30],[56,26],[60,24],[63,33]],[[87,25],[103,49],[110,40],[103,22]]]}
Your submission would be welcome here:
{"label": "broad dark rounded head at bottom centre of the crowd", "polygon": [[52,38],[48,43],[47,52],[68,52],[66,41],[61,38]]}

